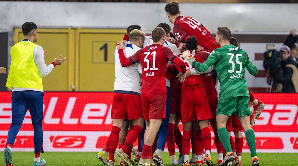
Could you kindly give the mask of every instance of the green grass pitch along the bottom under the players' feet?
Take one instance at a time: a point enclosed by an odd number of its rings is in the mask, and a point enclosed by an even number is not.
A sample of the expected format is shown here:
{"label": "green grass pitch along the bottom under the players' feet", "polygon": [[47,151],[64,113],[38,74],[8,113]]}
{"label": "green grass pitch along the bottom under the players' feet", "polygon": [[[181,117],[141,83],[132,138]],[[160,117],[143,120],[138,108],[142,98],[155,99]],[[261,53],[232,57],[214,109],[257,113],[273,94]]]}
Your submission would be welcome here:
{"label": "green grass pitch along the bottom under the players' feet", "polygon": [[[96,158],[96,152],[45,152],[41,154],[47,162],[47,166],[98,166],[103,165]],[[170,165],[169,153],[163,154],[164,165]],[[191,154],[190,154],[191,155]],[[212,159],[217,161],[217,154],[212,153]],[[179,157],[179,154],[176,153]],[[133,156],[134,157],[134,156]],[[258,153],[260,165],[262,166],[298,166],[298,154],[297,153]],[[115,165],[119,165],[119,158],[115,155]],[[250,154],[243,153],[241,156],[242,166],[251,166]],[[34,161],[33,152],[13,152],[14,166],[32,165]],[[4,154],[0,154],[0,165],[4,165]]]}

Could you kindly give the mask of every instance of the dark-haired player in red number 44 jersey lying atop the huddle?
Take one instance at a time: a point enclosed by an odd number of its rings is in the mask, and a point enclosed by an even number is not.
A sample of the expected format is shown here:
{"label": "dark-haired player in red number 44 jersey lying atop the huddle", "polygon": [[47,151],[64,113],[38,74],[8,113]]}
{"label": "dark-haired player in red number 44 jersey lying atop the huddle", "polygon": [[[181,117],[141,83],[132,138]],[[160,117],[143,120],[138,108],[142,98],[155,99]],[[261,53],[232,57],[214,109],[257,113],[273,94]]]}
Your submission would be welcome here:
{"label": "dark-haired player in red number 44 jersey lying atop the huddle", "polygon": [[167,17],[171,23],[174,24],[174,35],[185,43],[190,36],[195,36],[198,45],[204,47],[206,50],[214,50],[220,46],[216,45],[214,38],[210,36],[210,32],[196,19],[192,17],[181,16],[179,10],[179,3],[177,1],[170,2],[166,5],[164,10],[167,12]]}

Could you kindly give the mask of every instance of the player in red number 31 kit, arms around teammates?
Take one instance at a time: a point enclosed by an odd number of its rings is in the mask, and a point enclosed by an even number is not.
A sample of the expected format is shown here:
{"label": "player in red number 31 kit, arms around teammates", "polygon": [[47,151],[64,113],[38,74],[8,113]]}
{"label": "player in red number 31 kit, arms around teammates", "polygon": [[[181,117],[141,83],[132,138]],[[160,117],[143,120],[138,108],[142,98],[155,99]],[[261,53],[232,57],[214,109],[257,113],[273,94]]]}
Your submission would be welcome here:
{"label": "player in red number 31 kit, arms around teammates", "polygon": [[[178,74],[181,82],[185,80],[186,75],[185,63],[171,49],[163,46],[165,31],[162,28],[158,27],[152,31],[152,40],[152,45],[139,50],[129,58],[125,58],[122,50],[126,44],[118,46],[119,58],[123,67],[130,66],[138,61],[142,65],[141,98],[144,119],[146,120],[146,131],[139,165],[144,166],[154,165],[151,149],[159,126],[165,118],[167,61],[170,60],[181,68],[181,72]],[[121,152],[124,157],[127,156],[121,149],[117,151],[117,154],[118,152]],[[120,155],[119,157],[123,160],[123,156]]]}

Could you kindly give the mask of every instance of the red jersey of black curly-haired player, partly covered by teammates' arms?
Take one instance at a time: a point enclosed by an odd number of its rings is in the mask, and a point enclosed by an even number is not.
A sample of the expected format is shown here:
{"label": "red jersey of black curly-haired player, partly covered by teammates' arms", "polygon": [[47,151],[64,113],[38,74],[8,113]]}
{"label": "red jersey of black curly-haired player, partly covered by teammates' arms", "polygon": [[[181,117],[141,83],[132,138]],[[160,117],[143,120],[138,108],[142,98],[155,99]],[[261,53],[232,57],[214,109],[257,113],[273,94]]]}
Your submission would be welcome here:
{"label": "red jersey of black curly-haired player, partly covered by teammates' arms", "polygon": [[[202,59],[200,56],[198,56],[198,54],[200,53],[200,51],[195,52],[195,60],[203,63],[204,59]],[[181,55],[181,54],[180,54]],[[179,58],[180,58],[179,55]],[[192,69],[193,66],[191,66],[191,64],[185,60],[184,58],[180,58],[185,62],[186,68],[187,69]],[[186,77],[185,81],[182,82],[182,91],[184,90],[191,90],[193,89],[193,85],[197,85],[198,87],[204,87],[205,88],[205,84],[204,84],[204,78],[203,75],[190,75],[188,77]]]}

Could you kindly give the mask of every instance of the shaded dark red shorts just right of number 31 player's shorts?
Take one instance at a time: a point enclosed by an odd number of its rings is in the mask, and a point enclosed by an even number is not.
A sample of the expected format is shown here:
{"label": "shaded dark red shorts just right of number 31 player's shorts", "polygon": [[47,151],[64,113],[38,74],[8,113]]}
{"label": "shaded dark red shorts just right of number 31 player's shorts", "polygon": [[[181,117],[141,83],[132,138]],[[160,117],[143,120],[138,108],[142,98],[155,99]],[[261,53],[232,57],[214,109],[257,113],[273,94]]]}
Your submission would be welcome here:
{"label": "shaded dark red shorts just right of number 31 player's shorts", "polygon": [[181,83],[171,82],[171,114],[176,113],[176,117],[181,118]]}

